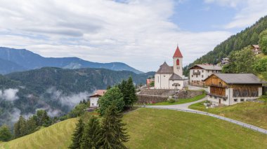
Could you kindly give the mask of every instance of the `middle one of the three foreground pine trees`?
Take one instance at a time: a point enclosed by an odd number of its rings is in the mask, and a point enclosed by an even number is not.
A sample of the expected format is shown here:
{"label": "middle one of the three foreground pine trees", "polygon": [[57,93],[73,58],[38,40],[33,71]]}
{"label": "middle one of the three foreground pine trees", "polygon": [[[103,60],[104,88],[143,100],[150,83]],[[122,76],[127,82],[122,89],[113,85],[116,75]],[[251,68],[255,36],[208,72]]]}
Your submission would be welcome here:
{"label": "middle one of the three foreground pine trees", "polygon": [[82,135],[82,149],[100,148],[100,139],[102,137],[102,129],[98,118],[92,116],[87,122],[84,133]]}

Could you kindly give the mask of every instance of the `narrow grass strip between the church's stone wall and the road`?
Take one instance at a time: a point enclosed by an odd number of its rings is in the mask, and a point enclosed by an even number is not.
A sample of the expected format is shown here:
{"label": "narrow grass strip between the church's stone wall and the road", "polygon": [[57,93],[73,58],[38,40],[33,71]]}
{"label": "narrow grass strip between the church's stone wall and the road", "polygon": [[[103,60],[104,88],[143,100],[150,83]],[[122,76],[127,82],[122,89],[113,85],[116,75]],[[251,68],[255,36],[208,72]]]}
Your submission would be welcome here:
{"label": "narrow grass strip between the church's stone wall and the road", "polygon": [[156,103],[156,104],[147,104],[148,106],[159,106],[159,105],[175,105],[175,104],[185,104],[185,103],[188,103],[188,102],[193,102],[193,101],[197,101],[197,100],[200,100],[202,98],[204,98],[206,96],[205,93],[203,94],[200,94],[196,97],[193,97],[193,98],[190,98],[190,99],[178,99],[178,101],[174,102],[174,103],[169,103],[168,101],[164,101],[164,102],[159,102],[159,103]]}

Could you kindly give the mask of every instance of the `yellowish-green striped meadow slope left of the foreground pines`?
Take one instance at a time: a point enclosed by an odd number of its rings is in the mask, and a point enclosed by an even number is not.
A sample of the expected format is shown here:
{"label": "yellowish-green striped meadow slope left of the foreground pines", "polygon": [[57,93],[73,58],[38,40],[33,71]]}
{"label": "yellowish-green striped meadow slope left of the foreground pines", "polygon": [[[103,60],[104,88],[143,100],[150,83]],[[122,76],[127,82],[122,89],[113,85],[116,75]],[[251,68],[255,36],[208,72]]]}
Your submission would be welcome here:
{"label": "yellowish-green striped meadow slope left of the foreground pines", "polygon": [[75,127],[76,119],[72,118],[63,122],[58,122],[55,125],[46,127],[23,136],[19,139],[0,143],[0,149],[24,149],[24,148],[67,148],[70,145],[70,139]]}

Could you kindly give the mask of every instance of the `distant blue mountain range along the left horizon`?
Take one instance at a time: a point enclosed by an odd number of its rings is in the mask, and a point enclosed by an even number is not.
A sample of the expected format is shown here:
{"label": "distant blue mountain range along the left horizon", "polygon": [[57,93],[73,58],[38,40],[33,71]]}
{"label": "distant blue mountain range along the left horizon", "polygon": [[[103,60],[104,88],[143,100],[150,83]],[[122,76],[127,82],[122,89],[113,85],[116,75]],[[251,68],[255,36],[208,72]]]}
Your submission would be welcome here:
{"label": "distant blue mountain range along the left horizon", "polygon": [[133,71],[143,73],[122,62],[89,62],[78,57],[42,57],[25,49],[0,47],[0,73],[40,69],[41,67],[58,67],[63,69],[101,68],[113,71]]}

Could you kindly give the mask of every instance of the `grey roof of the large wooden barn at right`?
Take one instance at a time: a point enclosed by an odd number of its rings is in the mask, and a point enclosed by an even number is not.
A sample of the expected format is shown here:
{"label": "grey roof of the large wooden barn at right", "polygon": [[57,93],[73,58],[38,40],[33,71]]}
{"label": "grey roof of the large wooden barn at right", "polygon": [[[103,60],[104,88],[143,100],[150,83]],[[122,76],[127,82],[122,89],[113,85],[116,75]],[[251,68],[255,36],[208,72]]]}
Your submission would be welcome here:
{"label": "grey roof of the large wooden barn at right", "polygon": [[[265,83],[252,73],[214,73],[227,84],[262,84]],[[207,80],[207,79],[205,79]]]}

